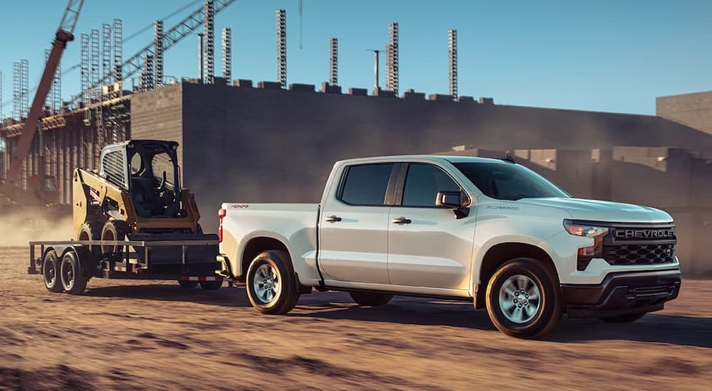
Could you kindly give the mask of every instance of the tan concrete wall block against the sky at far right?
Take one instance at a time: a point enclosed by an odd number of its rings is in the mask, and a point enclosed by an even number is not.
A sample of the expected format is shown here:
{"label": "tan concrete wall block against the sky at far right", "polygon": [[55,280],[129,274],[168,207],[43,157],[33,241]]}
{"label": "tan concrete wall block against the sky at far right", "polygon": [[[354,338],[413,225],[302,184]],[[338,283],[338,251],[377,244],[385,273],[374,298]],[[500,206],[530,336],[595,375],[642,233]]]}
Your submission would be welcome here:
{"label": "tan concrete wall block against the sky at far right", "polygon": [[656,98],[656,114],[712,134],[712,91]]}

